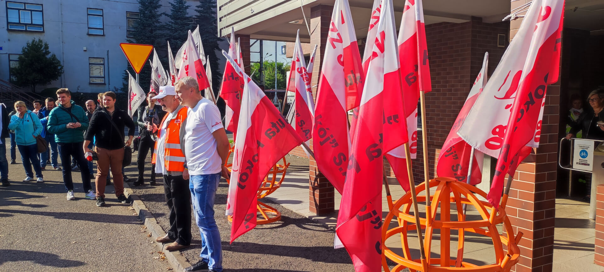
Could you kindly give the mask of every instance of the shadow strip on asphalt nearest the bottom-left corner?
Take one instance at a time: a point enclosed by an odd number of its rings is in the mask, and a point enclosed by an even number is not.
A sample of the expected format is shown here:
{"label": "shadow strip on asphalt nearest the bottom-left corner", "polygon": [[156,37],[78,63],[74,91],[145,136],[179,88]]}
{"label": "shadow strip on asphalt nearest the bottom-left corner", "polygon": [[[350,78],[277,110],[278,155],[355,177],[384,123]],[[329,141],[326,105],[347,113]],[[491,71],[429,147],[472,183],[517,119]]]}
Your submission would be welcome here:
{"label": "shadow strip on asphalt nearest the bottom-left corner", "polygon": [[28,250],[0,250],[0,265],[4,262],[32,261],[49,267],[80,267],[85,262],[61,259],[59,255]]}

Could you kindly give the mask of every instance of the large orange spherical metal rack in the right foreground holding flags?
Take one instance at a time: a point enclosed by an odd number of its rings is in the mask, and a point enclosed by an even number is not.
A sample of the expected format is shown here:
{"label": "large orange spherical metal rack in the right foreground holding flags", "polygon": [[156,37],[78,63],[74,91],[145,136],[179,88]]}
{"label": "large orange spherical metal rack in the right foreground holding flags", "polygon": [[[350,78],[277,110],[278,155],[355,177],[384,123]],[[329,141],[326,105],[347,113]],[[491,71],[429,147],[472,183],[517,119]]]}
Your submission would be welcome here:
{"label": "large orange spherical metal rack in the right foreground holding flags", "polygon": [[[382,227],[382,267],[384,271],[399,272],[404,268],[409,268],[411,272],[422,271],[472,271],[472,272],[503,272],[510,271],[518,262],[519,248],[518,242],[522,238],[522,233],[514,236],[512,224],[507,218],[505,206],[507,195],[504,195],[501,206],[495,209],[489,202],[481,201],[478,196],[486,198],[486,193],[477,187],[467,183],[462,183],[454,178],[435,178],[429,182],[429,188],[436,187],[436,192],[430,197],[431,200],[431,218],[420,218],[419,225],[425,231],[423,232],[423,248],[426,252],[426,260],[413,259],[410,251],[409,233],[417,230],[416,218],[410,210],[413,207],[411,193],[407,192],[398,201],[394,202],[393,208],[385,218],[384,227]],[[420,192],[426,189],[426,184],[421,183],[417,188],[417,202],[425,202],[426,196],[420,196]],[[477,196],[478,195],[478,196]],[[451,210],[451,205],[457,208],[457,211]],[[463,212],[463,204],[467,207],[475,207],[480,213],[480,219],[466,221],[466,215]],[[440,212],[437,216],[437,209]],[[452,213],[453,212],[453,213]],[[457,214],[455,216],[455,213]],[[457,217],[452,220],[451,215]],[[396,221],[393,222],[394,217]],[[392,227],[397,225],[396,227]],[[500,233],[496,226],[503,224],[505,233]],[[458,242],[457,252],[451,249],[451,230],[457,230]],[[434,233],[440,233],[440,257],[430,256],[432,236]],[[495,263],[489,265],[475,265],[463,261],[464,234],[476,233],[481,236],[489,237],[495,248]],[[395,253],[388,248],[386,244],[396,235],[400,235],[403,256]],[[390,241],[388,241],[389,238]],[[397,239],[397,238],[396,238]],[[416,245],[417,247],[417,245]],[[505,247],[505,249],[504,249]],[[455,257],[451,257],[451,251]],[[396,265],[392,270],[387,265],[387,259],[390,259]]]}

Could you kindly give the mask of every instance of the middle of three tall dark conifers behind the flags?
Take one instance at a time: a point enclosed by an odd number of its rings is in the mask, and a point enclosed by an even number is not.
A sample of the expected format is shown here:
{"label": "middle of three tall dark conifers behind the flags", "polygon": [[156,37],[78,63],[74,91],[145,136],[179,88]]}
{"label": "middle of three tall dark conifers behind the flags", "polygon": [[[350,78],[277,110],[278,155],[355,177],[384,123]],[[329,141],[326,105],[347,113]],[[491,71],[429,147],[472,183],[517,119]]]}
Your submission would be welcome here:
{"label": "middle of three tall dark conifers behind the flags", "polygon": [[170,21],[164,25],[167,30],[165,36],[170,40],[172,53],[176,54],[182,44],[187,40],[188,30],[191,30],[190,17],[188,16],[188,8],[191,6],[187,5],[186,0],[174,0],[173,2],[170,2],[170,5],[172,6],[170,8],[170,14],[164,13],[165,16],[170,18]]}

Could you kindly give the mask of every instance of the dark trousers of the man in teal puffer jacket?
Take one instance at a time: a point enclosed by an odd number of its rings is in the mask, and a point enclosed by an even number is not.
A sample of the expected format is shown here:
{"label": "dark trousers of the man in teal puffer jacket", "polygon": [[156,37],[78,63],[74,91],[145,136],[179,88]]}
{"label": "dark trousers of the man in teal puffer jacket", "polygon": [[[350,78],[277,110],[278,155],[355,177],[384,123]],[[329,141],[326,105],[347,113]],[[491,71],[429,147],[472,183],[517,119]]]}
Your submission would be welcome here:
{"label": "dark trousers of the man in teal puffer jacket", "polygon": [[[90,170],[88,169],[88,160],[84,157],[84,149],[82,148],[83,142],[79,143],[59,143],[59,155],[61,155],[61,161],[71,161],[70,158],[73,156],[80,165],[80,175],[82,176],[82,184],[84,186],[84,192],[88,193],[88,190],[92,190],[90,184]],[[71,167],[69,164],[63,164],[63,183],[65,183],[65,190],[73,190],[74,183],[71,180]]]}

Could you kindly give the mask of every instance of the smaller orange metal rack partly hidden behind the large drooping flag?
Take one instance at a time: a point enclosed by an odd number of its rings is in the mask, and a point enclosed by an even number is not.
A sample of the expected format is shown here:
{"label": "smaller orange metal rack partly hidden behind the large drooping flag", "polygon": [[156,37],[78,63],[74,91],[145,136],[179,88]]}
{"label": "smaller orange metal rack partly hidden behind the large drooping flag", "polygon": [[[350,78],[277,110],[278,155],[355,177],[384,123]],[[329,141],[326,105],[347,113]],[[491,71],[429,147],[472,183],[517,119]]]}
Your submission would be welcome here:
{"label": "smaller orange metal rack partly hidden behind the large drooping flag", "polygon": [[[229,150],[229,156],[233,151],[234,149]],[[281,160],[283,161],[283,164],[277,162],[277,164],[269,170],[268,174],[266,174],[265,179],[258,189],[258,194],[256,195],[258,202],[256,207],[260,213],[260,218],[257,218],[257,225],[270,224],[281,219],[281,213],[277,209],[260,202],[260,199],[265,198],[281,187],[281,183],[283,183],[285,173],[289,167],[289,163],[285,160],[285,157],[281,158]],[[233,163],[227,163],[225,166],[229,172],[231,172]],[[230,183],[230,180],[226,180],[226,183]],[[228,216],[228,221],[233,222],[233,216]]]}

